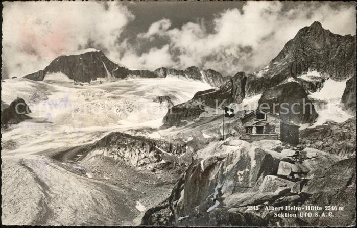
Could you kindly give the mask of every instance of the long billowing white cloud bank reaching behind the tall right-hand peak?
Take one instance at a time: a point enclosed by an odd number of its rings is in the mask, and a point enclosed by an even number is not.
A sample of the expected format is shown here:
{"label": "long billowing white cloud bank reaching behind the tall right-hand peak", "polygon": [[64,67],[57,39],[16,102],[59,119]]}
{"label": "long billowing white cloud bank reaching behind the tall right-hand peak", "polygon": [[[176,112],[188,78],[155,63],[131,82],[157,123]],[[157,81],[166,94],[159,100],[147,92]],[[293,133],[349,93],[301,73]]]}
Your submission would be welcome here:
{"label": "long billowing white cloud bank reaching behind the tall right-hand peak", "polygon": [[134,68],[155,69],[158,62],[165,60],[161,66],[184,69],[197,65],[225,75],[253,72],[268,65],[302,27],[318,20],[333,33],[354,35],[355,19],[352,5],[332,7],[329,3],[315,2],[295,4],[286,10],[278,1],[248,1],[241,10],[229,9],[217,14],[210,33],[204,23],[188,22],[179,29],[170,29],[169,19],[156,21],[137,38],[154,41],[166,37],[164,48],[155,47],[140,55],[134,48],[128,49],[120,62]]}

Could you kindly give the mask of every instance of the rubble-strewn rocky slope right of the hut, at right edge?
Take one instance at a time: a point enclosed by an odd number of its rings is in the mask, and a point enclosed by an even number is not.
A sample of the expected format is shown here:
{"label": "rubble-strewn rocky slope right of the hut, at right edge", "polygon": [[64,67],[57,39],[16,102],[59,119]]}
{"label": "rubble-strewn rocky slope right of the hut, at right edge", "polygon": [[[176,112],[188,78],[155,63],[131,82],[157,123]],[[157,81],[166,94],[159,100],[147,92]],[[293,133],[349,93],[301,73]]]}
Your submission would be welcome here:
{"label": "rubble-strewn rocky slope right of the hut, at right edge", "polygon": [[320,149],[342,158],[355,157],[356,119],[345,122],[326,122],[316,128],[300,131],[300,144],[303,147]]}

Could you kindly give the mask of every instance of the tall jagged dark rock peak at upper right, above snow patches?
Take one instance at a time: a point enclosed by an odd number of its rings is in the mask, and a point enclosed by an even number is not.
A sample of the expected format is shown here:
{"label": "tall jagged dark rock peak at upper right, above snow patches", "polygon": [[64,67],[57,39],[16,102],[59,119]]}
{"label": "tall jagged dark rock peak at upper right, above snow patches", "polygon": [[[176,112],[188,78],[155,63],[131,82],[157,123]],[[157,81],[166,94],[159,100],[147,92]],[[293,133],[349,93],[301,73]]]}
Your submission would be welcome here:
{"label": "tall jagged dark rock peak at upper right, above snow patches", "polygon": [[336,81],[348,79],[355,74],[356,37],[333,34],[315,21],[300,29],[269,67],[288,68],[293,75],[314,69]]}

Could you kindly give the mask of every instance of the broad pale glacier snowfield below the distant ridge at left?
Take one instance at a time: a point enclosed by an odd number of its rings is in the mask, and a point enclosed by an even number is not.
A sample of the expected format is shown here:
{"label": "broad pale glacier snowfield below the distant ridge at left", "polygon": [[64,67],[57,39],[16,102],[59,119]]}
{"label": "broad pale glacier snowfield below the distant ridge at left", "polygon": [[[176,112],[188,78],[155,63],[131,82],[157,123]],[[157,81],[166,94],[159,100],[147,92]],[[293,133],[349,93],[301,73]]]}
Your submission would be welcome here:
{"label": "broad pale glacier snowfield below the distant ridge at left", "polygon": [[[31,120],[10,126],[3,132],[3,143],[16,142],[5,153],[38,153],[64,145],[76,146],[97,140],[109,131],[158,128],[168,111],[154,101],[169,96],[174,105],[190,99],[210,85],[199,81],[164,79],[127,79],[84,86],[12,79],[2,83],[2,100],[10,104],[17,96],[30,106]],[[46,76],[47,77],[47,76]]]}

